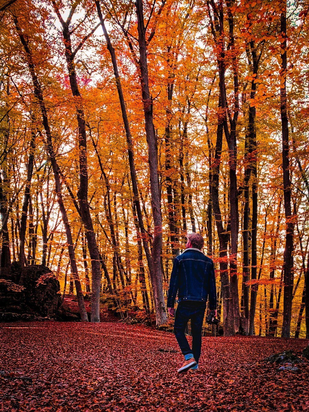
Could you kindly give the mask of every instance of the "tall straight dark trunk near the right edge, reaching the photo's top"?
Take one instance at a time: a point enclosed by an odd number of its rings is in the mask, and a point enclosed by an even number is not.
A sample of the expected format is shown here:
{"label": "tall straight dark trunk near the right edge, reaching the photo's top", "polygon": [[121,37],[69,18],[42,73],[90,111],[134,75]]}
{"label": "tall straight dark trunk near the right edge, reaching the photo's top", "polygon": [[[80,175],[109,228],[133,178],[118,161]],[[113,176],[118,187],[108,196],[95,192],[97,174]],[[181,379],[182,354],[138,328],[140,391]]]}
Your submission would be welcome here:
{"label": "tall straight dark trunk near the right edge, reaching the photo's top", "polygon": [[288,114],[286,105],[286,2],[285,10],[281,13],[280,33],[281,41],[281,70],[280,70],[280,114],[282,125],[282,169],[283,169],[283,196],[284,212],[286,217],[286,245],[283,252],[283,324],[281,337],[290,337],[290,324],[292,314],[293,294],[293,233],[294,224],[291,211],[291,182],[290,182],[290,160],[289,160],[289,130]]}

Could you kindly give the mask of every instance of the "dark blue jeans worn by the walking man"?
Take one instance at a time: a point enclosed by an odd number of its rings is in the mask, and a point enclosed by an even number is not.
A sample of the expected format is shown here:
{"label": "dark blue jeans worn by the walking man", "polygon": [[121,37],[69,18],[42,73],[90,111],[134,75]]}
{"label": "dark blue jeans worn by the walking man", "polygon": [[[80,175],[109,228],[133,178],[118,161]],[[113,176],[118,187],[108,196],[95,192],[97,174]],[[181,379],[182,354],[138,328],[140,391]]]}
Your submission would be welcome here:
{"label": "dark blue jeans worn by the walking man", "polygon": [[[183,355],[193,353],[194,359],[199,362],[202,346],[202,326],[206,302],[196,302],[193,300],[181,301],[178,304],[175,314],[174,332]],[[192,350],[185,336],[185,328],[191,319]]]}

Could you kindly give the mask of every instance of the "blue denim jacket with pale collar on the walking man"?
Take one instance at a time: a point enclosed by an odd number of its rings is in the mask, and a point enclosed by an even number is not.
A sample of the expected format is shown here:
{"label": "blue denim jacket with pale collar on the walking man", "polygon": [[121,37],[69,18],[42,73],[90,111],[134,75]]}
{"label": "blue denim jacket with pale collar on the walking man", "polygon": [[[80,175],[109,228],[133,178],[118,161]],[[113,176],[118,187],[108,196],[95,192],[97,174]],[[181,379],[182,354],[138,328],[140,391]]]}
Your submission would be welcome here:
{"label": "blue denim jacket with pale collar on the walking man", "polygon": [[205,301],[209,309],[217,309],[215,269],[213,261],[199,249],[188,248],[173,263],[167,307],[174,307],[176,294],[182,300]]}

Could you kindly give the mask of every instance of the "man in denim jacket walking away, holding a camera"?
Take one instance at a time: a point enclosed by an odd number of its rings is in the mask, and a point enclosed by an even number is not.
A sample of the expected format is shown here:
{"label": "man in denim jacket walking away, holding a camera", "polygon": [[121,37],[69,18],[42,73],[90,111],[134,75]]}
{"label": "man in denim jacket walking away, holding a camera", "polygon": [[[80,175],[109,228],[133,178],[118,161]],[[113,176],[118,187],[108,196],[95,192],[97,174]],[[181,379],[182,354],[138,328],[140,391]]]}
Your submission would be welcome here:
{"label": "man in denim jacket walking away, holding a camera", "polygon": [[[201,356],[202,326],[209,300],[209,309],[217,316],[217,293],[213,261],[201,251],[203,237],[198,233],[187,236],[186,249],[176,256],[169,283],[167,307],[169,314],[175,316],[174,332],[179,347],[185,356],[185,363],[178,372],[197,371]],[[175,314],[174,304],[178,292],[178,307]],[[186,325],[191,319],[192,349],[185,337]]]}

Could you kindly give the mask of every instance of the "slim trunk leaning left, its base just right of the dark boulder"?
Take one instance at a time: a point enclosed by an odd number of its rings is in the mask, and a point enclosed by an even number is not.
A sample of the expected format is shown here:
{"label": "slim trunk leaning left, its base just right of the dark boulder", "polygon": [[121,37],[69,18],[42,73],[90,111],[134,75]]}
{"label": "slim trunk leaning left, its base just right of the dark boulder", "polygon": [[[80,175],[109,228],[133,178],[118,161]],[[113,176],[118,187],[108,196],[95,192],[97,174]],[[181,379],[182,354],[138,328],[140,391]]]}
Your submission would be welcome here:
{"label": "slim trunk leaning left, its base just right of the dark boulder", "polygon": [[14,23],[15,23],[15,26],[16,26],[16,31],[17,31],[17,33],[19,35],[19,38],[21,40],[21,43],[23,45],[23,48],[26,52],[28,67],[29,67],[29,71],[30,71],[30,75],[31,75],[32,82],[33,82],[33,87],[34,87],[34,96],[37,99],[37,103],[39,104],[40,110],[41,110],[41,113],[42,113],[43,126],[44,126],[44,130],[45,130],[46,137],[47,137],[47,154],[48,154],[50,162],[52,164],[52,168],[53,168],[53,172],[54,172],[54,179],[55,179],[58,206],[59,206],[60,213],[61,213],[61,216],[62,216],[63,225],[64,225],[65,230],[66,230],[67,243],[68,243],[68,252],[69,252],[69,256],[70,256],[71,270],[72,270],[72,274],[74,276],[74,281],[75,281],[75,287],[76,287],[76,292],[77,292],[77,300],[78,300],[78,305],[79,305],[79,309],[80,309],[80,315],[81,315],[81,318],[82,318],[83,322],[88,322],[88,316],[87,316],[87,312],[86,312],[85,304],[84,304],[84,297],[83,297],[83,294],[82,294],[82,286],[80,284],[80,279],[79,279],[78,272],[77,272],[75,252],[74,252],[74,248],[73,248],[72,233],[71,233],[71,228],[70,228],[70,224],[69,224],[69,221],[68,221],[68,215],[66,213],[66,207],[63,203],[63,197],[62,197],[62,193],[61,193],[60,174],[59,174],[59,169],[58,169],[58,165],[57,165],[57,162],[56,162],[54,146],[53,146],[53,143],[52,143],[52,134],[51,134],[51,131],[50,131],[50,128],[49,128],[49,121],[48,121],[47,110],[46,110],[43,95],[42,95],[42,89],[41,89],[40,82],[37,79],[37,75],[35,74],[35,65],[33,63],[33,58],[32,58],[32,54],[31,54],[31,51],[30,51],[29,46],[28,46],[28,42],[23,37],[23,34],[21,32],[21,29],[19,28],[19,24],[18,24],[16,16],[14,16]]}

